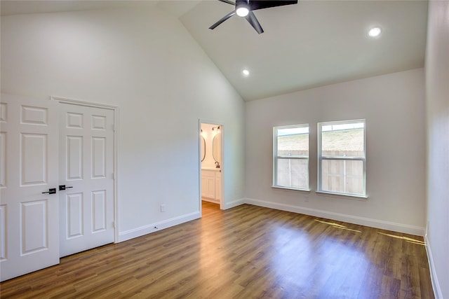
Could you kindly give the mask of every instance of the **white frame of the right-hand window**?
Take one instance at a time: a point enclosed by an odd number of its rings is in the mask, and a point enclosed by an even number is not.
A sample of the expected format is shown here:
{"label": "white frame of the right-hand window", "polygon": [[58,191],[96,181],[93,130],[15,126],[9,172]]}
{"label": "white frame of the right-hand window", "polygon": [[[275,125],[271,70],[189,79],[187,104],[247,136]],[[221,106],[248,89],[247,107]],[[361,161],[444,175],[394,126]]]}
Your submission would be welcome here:
{"label": "white frame of the right-hand window", "polygon": [[[342,157],[342,156],[335,156],[335,155],[322,155],[321,153],[321,130],[323,129],[324,125],[344,125],[344,124],[351,124],[351,123],[363,123],[363,156],[359,157]],[[332,195],[344,195],[349,197],[361,197],[361,198],[368,198],[366,195],[366,120],[365,119],[359,119],[359,120],[342,120],[342,121],[330,121],[325,123],[318,123],[318,186],[317,186],[317,193],[326,193],[326,194],[332,194]],[[335,191],[329,191],[329,190],[323,190],[323,179],[322,179],[322,168],[321,164],[323,160],[342,160],[342,161],[362,161],[363,162],[363,193],[344,193],[344,192],[335,192]]]}

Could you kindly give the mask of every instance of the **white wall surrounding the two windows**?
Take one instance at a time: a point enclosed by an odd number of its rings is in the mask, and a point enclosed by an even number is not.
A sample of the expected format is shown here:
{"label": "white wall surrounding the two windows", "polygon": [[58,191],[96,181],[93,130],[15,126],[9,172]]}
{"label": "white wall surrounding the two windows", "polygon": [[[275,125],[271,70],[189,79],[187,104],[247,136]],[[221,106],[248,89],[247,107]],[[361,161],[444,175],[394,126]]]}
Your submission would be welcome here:
{"label": "white wall surrounding the two windows", "polygon": [[[319,195],[316,124],[366,119],[368,200]],[[310,193],[272,188],[272,128],[310,125]],[[424,234],[424,70],[246,103],[246,202]]]}

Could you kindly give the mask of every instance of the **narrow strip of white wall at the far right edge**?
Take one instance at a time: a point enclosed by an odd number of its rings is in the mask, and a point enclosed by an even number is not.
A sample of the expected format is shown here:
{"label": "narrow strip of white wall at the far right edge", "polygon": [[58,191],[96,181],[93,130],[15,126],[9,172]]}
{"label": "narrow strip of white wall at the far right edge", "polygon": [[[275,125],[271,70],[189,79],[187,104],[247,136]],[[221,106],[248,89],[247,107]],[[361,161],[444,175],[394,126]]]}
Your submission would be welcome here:
{"label": "narrow strip of white wall at the far right edge", "polygon": [[429,1],[427,20],[427,253],[442,299],[449,298],[449,1]]}

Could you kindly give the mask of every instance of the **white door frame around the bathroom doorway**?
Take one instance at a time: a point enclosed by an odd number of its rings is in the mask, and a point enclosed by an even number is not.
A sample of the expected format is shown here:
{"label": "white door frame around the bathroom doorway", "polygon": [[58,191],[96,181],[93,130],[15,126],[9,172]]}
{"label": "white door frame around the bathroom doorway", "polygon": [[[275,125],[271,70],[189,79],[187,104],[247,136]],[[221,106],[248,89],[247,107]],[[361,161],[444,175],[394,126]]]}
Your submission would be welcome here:
{"label": "white door frame around the bathroom doorway", "polygon": [[221,151],[221,155],[220,157],[222,158],[222,162],[221,162],[221,195],[220,195],[220,209],[225,209],[225,127],[226,125],[224,125],[223,122],[221,121],[217,121],[217,120],[205,120],[205,119],[199,119],[198,120],[198,169],[199,169],[199,174],[198,174],[198,180],[199,180],[199,211],[201,216],[203,216],[203,209],[202,209],[202,197],[201,197],[201,193],[202,193],[202,186],[201,186],[201,124],[202,123],[208,123],[208,124],[214,124],[214,125],[219,125],[220,126],[220,138],[221,138],[221,142],[220,142],[220,151]]}

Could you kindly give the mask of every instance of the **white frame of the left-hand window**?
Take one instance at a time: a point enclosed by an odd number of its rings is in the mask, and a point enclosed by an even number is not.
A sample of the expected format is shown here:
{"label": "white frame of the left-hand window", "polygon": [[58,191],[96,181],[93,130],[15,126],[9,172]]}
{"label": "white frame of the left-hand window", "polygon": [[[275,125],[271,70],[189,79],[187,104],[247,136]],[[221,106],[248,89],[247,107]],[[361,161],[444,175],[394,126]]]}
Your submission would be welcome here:
{"label": "white frame of the left-hand window", "polygon": [[[277,155],[278,153],[278,130],[280,129],[290,129],[290,128],[304,128],[307,127],[309,129],[308,133],[308,149],[309,155],[303,156],[281,156]],[[272,188],[281,188],[281,189],[289,189],[289,190],[302,190],[302,191],[310,191],[310,126],[309,124],[301,124],[301,125],[282,125],[278,127],[273,127],[273,186]],[[295,188],[289,186],[280,186],[277,184],[277,173],[278,173],[278,160],[279,159],[298,159],[298,160],[307,160],[307,188]]]}

